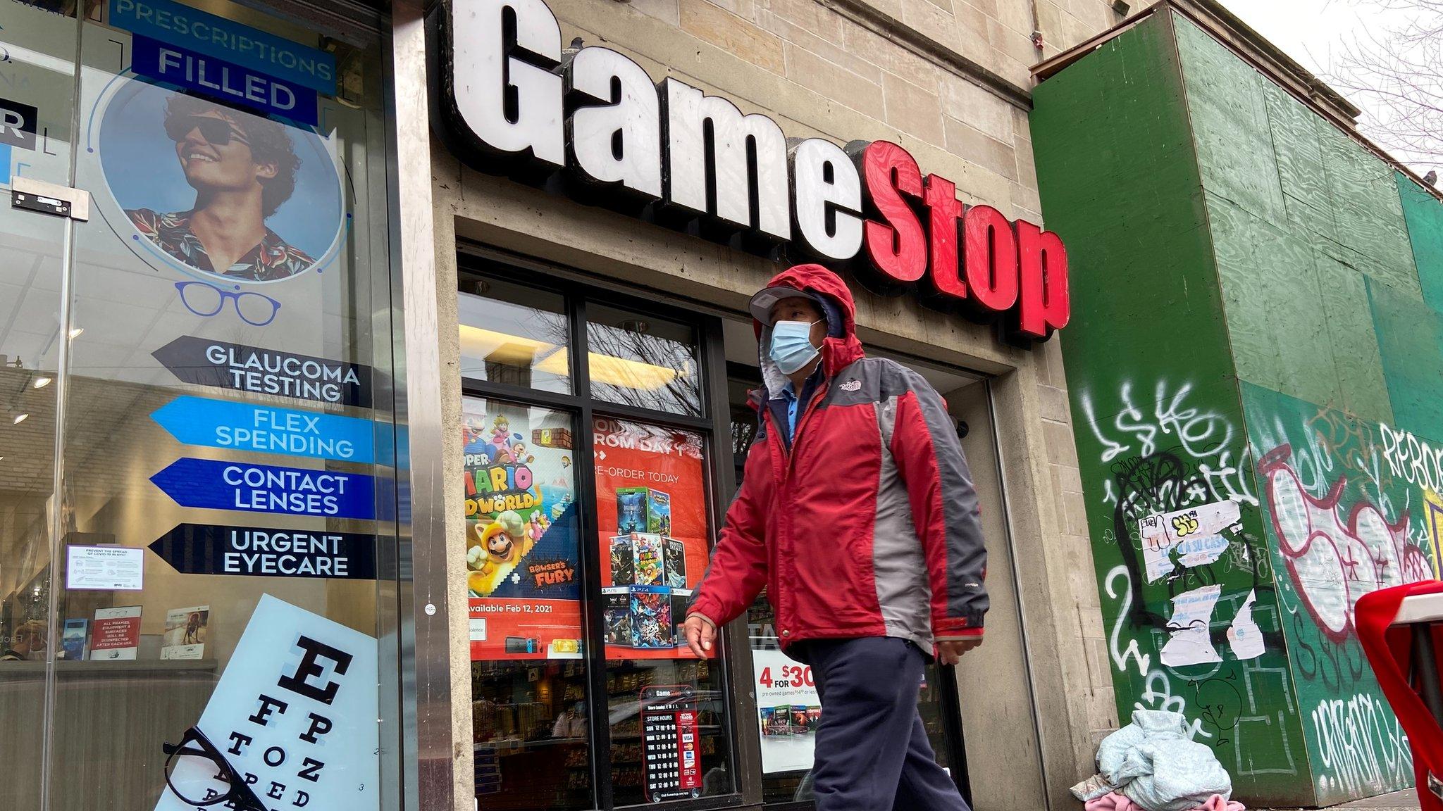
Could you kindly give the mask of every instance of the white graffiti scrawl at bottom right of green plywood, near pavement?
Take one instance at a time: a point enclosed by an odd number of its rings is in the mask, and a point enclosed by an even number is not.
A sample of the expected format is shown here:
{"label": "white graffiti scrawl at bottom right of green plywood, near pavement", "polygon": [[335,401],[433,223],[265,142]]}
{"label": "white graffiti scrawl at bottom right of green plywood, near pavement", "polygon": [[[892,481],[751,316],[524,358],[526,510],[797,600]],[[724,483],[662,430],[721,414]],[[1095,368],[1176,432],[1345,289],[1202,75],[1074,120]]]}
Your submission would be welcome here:
{"label": "white graffiti scrawl at bottom right of green plywood, near pavement", "polygon": [[[1329,794],[1381,794],[1413,781],[1408,736],[1388,707],[1368,694],[1332,698],[1313,710],[1313,730],[1322,766],[1329,776],[1319,788]],[[1329,784],[1330,781],[1330,784]]]}

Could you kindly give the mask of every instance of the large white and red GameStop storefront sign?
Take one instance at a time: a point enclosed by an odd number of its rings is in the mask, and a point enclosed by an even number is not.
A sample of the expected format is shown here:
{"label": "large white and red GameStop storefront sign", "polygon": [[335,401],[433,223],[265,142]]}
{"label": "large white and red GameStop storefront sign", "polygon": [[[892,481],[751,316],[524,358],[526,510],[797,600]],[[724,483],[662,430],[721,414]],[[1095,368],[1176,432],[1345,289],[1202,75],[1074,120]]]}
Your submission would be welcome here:
{"label": "large white and red GameStop storefront sign", "polygon": [[[1000,320],[1017,341],[1068,323],[1062,240],[924,175],[889,141],[788,139],[776,121],[608,48],[561,48],[543,0],[452,0],[442,131],[478,169],[736,247],[848,267],[876,289]],[[501,169],[505,166],[505,169]]]}

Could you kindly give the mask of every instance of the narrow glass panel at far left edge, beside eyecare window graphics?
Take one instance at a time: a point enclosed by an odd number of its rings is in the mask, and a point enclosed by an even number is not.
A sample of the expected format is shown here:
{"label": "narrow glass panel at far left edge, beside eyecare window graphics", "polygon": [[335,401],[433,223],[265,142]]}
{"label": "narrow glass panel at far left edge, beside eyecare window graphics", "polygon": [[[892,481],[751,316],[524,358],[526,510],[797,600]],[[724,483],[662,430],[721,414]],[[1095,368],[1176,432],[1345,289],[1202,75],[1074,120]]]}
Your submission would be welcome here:
{"label": "narrow glass panel at far left edge, beside eyecare window graphics", "polygon": [[52,608],[55,431],[69,221],[12,208],[19,179],[69,186],[74,10],[0,0],[0,808],[42,808]]}

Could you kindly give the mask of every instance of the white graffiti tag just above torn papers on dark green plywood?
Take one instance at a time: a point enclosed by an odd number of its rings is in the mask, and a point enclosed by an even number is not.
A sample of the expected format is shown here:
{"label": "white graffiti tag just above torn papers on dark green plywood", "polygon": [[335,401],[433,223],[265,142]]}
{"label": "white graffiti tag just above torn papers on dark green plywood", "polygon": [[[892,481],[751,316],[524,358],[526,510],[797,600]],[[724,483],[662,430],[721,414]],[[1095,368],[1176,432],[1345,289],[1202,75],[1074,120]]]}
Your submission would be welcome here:
{"label": "white graffiti tag just above torn papers on dark green plywood", "polygon": [[[1247,476],[1247,452],[1234,457],[1232,439],[1237,430],[1232,421],[1216,411],[1202,410],[1188,404],[1192,384],[1170,390],[1166,381],[1157,381],[1153,401],[1139,406],[1131,381],[1118,391],[1123,408],[1107,424],[1098,420],[1097,406],[1091,393],[1079,397],[1082,416],[1098,444],[1102,446],[1104,465],[1127,456],[1152,456],[1159,450],[1176,449],[1198,466],[1198,481],[1186,494],[1190,501],[1238,501],[1257,504]],[[1146,413],[1149,408],[1150,413]],[[1108,481],[1104,485],[1104,502],[1117,504],[1117,488]]]}

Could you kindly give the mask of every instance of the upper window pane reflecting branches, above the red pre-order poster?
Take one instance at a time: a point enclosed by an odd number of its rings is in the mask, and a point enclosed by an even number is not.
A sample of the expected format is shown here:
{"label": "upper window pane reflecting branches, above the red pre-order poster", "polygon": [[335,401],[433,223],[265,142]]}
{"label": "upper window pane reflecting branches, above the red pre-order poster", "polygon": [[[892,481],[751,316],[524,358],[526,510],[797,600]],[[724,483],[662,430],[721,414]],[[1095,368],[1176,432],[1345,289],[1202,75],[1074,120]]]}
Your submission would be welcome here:
{"label": "upper window pane reflecting branches, above the red pre-order poster", "polygon": [[697,341],[690,326],[592,304],[586,342],[592,395],[606,403],[701,414]]}

